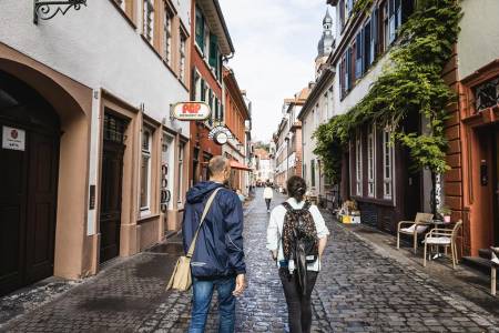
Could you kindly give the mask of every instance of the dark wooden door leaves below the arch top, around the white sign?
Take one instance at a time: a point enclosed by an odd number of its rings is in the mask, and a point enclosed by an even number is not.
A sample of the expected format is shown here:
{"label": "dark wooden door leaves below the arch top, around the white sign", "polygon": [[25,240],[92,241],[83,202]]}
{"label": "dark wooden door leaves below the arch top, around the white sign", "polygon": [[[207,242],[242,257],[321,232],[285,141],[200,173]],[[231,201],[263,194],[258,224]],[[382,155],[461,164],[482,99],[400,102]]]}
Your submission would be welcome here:
{"label": "dark wooden door leaves below the arch top, around the white sign", "polygon": [[59,139],[21,124],[24,151],[0,149],[0,294],[53,274]]}

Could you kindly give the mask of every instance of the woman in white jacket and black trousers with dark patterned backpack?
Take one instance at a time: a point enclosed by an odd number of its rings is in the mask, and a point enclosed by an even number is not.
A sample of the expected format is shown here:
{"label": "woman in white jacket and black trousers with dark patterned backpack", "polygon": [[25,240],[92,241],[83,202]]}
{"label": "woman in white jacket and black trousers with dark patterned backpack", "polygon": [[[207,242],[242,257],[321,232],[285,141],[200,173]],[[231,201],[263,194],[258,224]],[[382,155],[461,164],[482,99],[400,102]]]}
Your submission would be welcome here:
{"label": "woman in white jacket and black trousers with dark patterned backpack", "polygon": [[277,262],[291,333],[310,332],[310,295],[329,235],[317,206],[304,200],[306,190],[303,178],[289,178],[289,198],[272,211],[267,228],[267,249]]}

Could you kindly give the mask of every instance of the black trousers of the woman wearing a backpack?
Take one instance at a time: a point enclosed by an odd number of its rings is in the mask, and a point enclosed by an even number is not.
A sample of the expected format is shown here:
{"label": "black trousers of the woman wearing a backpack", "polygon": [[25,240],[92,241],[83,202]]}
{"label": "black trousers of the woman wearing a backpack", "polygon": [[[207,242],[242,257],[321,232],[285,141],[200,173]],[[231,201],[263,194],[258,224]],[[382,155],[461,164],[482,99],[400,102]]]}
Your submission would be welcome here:
{"label": "black trousers of the woman wearing a backpack", "polygon": [[287,303],[287,316],[291,333],[309,333],[312,326],[312,291],[317,281],[317,273],[307,272],[307,290],[302,294],[296,271],[289,274],[288,269],[279,269],[279,278],[283,283],[284,295]]}

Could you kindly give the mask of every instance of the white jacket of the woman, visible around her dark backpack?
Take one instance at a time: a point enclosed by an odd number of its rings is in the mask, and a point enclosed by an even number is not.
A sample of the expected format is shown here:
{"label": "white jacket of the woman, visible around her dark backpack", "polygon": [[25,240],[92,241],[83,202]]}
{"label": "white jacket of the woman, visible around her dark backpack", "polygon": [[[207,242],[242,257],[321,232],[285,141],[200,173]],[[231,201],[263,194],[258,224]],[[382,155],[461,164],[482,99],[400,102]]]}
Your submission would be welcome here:
{"label": "white jacket of the woman, visible around her dark backpack", "polygon": [[[293,206],[293,209],[301,209],[305,204],[305,201],[297,202],[296,199],[289,198],[287,202]],[[310,205],[309,211],[312,213],[312,218],[314,218],[315,228],[317,230],[317,238],[323,239],[327,235],[329,235],[329,230],[326,226],[326,222],[324,221],[323,215],[320,214],[320,211],[316,205]],[[283,226],[284,226],[284,216],[286,215],[286,209],[284,205],[279,204],[271,212],[271,220],[268,222],[267,228],[267,249],[271,251],[279,250],[277,254],[277,264],[281,260],[284,260],[284,252],[283,252],[283,241],[281,235],[283,234]],[[294,262],[293,260],[289,260],[288,262],[289,271],[294,270]],[[308,271],[316,271],[318,272],[320,270],[320,262],[317,259],[315,262],[308,264],[307,266]]]}

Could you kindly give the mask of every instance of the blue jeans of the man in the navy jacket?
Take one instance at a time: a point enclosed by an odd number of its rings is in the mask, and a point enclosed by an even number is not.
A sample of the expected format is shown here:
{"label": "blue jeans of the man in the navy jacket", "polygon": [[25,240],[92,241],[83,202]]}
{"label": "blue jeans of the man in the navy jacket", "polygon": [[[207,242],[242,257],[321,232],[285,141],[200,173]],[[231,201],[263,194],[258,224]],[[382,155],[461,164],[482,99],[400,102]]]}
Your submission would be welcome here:
{"label": "blue jeans of the man in the navy jacket", "polygon": [[235,324],[235,278],[201,280],[192,278],[193,304],[189,333],[203,333],[212,303],[213,291],[218,293],[218,333],[233,333]]}

